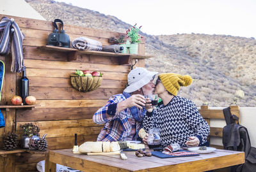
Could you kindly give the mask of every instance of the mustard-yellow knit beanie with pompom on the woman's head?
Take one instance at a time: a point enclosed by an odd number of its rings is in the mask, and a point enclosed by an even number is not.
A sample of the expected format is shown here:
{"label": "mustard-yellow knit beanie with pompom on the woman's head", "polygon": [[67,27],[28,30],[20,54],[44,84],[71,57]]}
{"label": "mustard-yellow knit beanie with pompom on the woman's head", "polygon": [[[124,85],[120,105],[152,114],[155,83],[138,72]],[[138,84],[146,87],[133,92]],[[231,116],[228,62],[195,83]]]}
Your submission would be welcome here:
{"label": "mustard-yellow knit beanie with pompom on the woman's head", "polygon": [[192,78],[189,75],[181,76],[176,73],[161,73],[159,75],[161,82],[168,92],[177,96],[180,86],[187,87],[192,83]]}

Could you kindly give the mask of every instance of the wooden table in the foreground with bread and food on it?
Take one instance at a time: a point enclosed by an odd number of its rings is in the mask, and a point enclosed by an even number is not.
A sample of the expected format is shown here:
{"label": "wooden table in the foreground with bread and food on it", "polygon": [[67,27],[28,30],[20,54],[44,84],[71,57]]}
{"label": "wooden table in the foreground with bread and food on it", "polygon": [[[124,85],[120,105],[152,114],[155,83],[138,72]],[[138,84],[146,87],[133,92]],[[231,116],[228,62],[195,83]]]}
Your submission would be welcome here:
{"label": "wooden table in the foreground with bread and food on it", "polygon": [[72,149],[49,150],[45,171],[56,171],[56,164],[81,171],[207,171],[244,163],[244,152],[220,150],[193,157],[136,157],[134,152],[120,155],[73,154]]}

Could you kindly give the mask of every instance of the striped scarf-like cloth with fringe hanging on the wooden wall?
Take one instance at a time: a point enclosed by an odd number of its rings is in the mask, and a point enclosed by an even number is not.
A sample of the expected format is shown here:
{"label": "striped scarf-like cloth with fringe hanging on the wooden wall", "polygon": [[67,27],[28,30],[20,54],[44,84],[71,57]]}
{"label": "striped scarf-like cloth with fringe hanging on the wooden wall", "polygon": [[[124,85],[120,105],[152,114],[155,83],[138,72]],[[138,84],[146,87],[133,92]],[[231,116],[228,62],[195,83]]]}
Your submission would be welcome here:
{"label": "striped scarf-like cloth with fringe hanging on the wooden wall", "polygon": [[13,18],[3,17],[0,22],[0,54],[12,53],[12,72],[21,72],[23,66],[22,41],[24,35]]}

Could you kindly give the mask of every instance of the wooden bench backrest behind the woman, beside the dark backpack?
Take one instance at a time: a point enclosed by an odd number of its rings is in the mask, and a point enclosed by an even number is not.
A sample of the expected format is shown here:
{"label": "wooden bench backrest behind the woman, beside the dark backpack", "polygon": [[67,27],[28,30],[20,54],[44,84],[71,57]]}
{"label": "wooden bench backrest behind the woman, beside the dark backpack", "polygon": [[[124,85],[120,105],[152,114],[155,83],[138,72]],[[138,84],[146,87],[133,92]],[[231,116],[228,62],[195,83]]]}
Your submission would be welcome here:
{"label": "wooden bench backrest behind the woman, beside the dark backpack", "polygon": [[[237,117],[239,116],[239,106],[230,106],[230,111],[232,115],[236,115]],[[222,119],[225,120],[224,114],[222,109],[221,110],[211,110],[209,109],[208,106],[201,106],[199,110],[200,114],[202,117],[206,120],[206,122],[210,125],[210,134],[209,134],[209,143],[211,147],[215,148],[222,148],[223,145],[212,145],[211,144],[211,137],[218,137],[222,138],[222,127],[211,127],[211,119]]]}

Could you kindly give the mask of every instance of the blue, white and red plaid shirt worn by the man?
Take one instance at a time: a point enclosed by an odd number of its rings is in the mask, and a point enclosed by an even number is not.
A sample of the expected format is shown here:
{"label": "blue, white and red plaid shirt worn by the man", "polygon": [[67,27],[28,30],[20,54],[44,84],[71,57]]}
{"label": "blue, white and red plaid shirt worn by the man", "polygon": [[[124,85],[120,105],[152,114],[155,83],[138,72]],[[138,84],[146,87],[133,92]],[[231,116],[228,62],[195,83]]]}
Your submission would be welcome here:
{"label": "blue, white and red plaid shirt worn by the man", "polygon": [[[124,100],[123,94],[111,96],[108,103],[93,115],[93,122],[105,124],[97,141],[124,141],[138,138],[138,131],[141,129],[142,122],[138,122],[132,117],[129,108],[116,113],[116,104]],[[145,113],[139,109],[138,111],[139,117],[144,118]]]}

